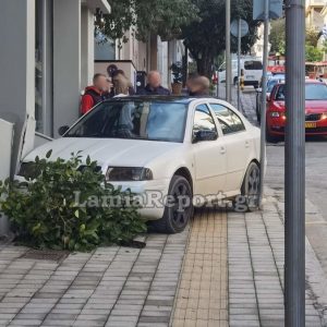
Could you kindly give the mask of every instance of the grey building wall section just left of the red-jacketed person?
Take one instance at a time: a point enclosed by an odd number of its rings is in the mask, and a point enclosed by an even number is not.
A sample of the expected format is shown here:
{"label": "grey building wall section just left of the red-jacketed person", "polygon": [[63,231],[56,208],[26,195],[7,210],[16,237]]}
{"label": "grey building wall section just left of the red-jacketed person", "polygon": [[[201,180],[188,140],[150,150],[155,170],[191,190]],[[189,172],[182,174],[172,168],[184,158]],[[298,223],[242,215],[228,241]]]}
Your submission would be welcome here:
{"label": "grey building wall section just left of the red-jacketed person", "polygon": [[53,132],[71,125],[81,101],[81,0],[53,1]]}

